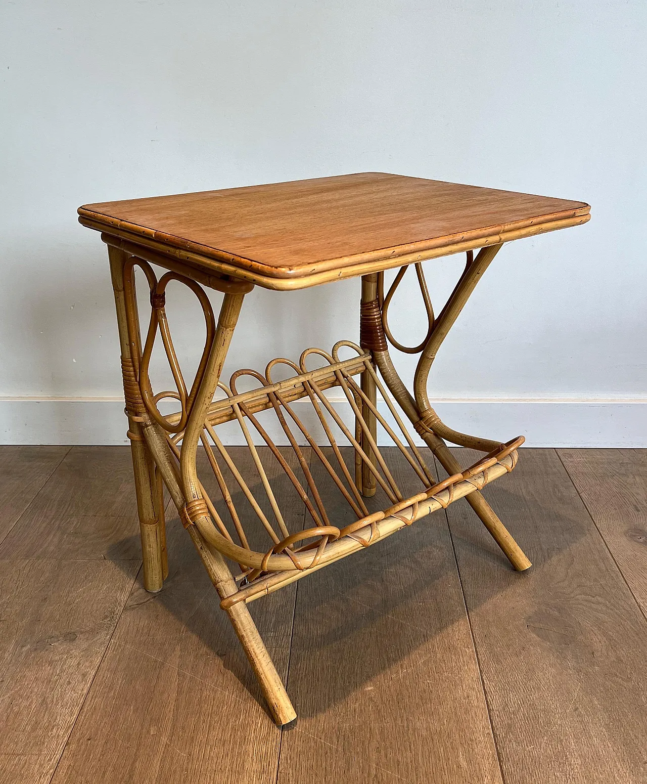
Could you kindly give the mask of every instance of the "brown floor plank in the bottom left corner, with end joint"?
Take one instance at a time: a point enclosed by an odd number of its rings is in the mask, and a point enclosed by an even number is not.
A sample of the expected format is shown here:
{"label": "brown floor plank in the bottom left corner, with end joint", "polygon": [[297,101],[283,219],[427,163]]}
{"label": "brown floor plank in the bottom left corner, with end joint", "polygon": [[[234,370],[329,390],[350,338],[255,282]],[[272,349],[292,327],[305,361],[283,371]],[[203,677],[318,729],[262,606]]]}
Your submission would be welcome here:
{"label": "brown floor plank in the bottom left corner, with end joint", "polygon": [[0,782],[49,782],[139,564],[0,561]]}

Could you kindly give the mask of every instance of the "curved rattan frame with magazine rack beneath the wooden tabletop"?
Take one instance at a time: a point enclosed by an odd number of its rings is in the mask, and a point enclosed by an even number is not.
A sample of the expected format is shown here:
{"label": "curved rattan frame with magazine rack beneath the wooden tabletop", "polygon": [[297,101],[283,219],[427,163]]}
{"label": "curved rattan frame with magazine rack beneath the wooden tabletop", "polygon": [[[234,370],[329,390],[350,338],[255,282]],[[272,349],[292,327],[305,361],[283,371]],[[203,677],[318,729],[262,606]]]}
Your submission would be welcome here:
{"label": "curved rattan frame with magazine rack beneath the wooden tabletop", "polygon": [[[131,246],[124,247],[130,249]],[[485,270],[496,250],[484,251],[473,264],[468,263],[454,294],[438,318],[434,318],[424,274],[421,267],[417,265],[417,278],[428,314],[428,337],[421,347],[409,349],[400,346],[399,343],[396,343],[396,346],[409,352],[422,351],[416,376],[418,386],[423,376],[426,386],[426,376],[440,343],[474,288],[479,274]],[[500,445],[496,441],[476,439],[446,428],[436,418],[432,409],[425,407],[428,404],[426,389],[424,395],[417,389],[416,397],[411,396],[392,366],[385,335],[385,328],[389,330],[386,311],[403,277],[403,271],[385,299],[382,297],[377,275],[367,276],[363,280],[361,339],[363,347],[349,341],[340,341],[333,347],[331,354],[316,348],[306,349],[298,365],[290,360],[278,358],[269,362],[265,375],[253,370],[235,372],[230,379],[230,387],[226,387],[220,381],[220,376],[247,285],[239,285],[236,281],[226,281],[224,278],[213,281],[210,279],[214,288],[224,290],[225,293],[216,325],[211,303],[201,287],[192,279],[188,267],[173,263],[174,268],[158,281],[149,263],[149,260],[152,263],[157,261],[153,250],[148,249],[142,254],[148,256],[148,260],[138,256],[136,252],[128,256],[123,249],[117,249],[113,245],[110,245],[109,253],[117,303],[117,321],[120,326],[121,363],[129,423],[128,436],[132,442],[136,474],[144,584],[147,590],[160,590],[163,579],[168,574],[164,503],[161,492],[161,482],[164,481],[179,510],[180,520],[189,532],[193,545],[219,593],[221,606],[229,615],[255,670],[277,724],[287,724],[294,720],[295,710],[251,620],[245,606],[246,602],[271,593],[281,586],[323,568],[326,564],[370,546],[433,511],[446,509],[454,500],[463,497],[472,503],[515,567],[526,568],[523,561],[525,556],[479,492],[484,485],[509,473],[515,467],[516,450],[522,438],[508,442],[507,445]],[[136,267],[143,270],[150,289],[151,315],[143,345],[137,313],[134,278]],[[185,271],[187,274],[184,274]],[[204,312],[206,340],[190,390],[185,383],[175,354],[164,310],[165,289],[169,281],[179,281],[192,289]],[[382,299],[384,299],[384,311],[380,310]],[[154,394],[148,368],[157,332],[161,334],[164,352],[175,380],[175,390]],[[389,339],[393,342],[390,332]],[[356,355],[341,360],[339,353],[342,348],[350,348]],[[366,348],[370,351],[365,350]],[[319,358],[319,361],[323,359],[323,367],[313,370],[306,367],[306,360],[313,355]],[[278,364],[291,368],[296,375],[273,383],[271,372]],[[425,459],[416,448],[396,406],[382,385],[376,367],[381,372],[386,387],[391,390],[404,413],[414,423],[417,432],[422,435],[450,473],[447,479],[439,483],[435,482],[432,471],[425,464]],[[244,375],[257,379],[262,386],[238,393],[236,382]],[[359,379],[356,378],[357,376]],[[344,418],[324,394],[324,391],[331,387],[339,387],[343,391],[350,410],[355,415],[354,433],[352,427],[347,426]],[[226,397],[214,400],[218,388],[225,392]],[[384,398],[392,420],[387,421],[382,416],[377,405],[378,392]],[[157,402],[163,397],[179,401],[179,411],[171,415],[163,415],[157,408]],[[309,402],[312,406],[312,411],[330,443],[334,458],[327,458],[297,416],[295,408],[291,407],[293,401],[300,399]],[[293,469],[273,443],[269,430],[256,416],[262,411],[273,412],[273,416],[276,416],[280,431],[285,434],[295,453],[298,468]],[[392,426],[392,421],[395,421],[396,426]],[[258,474],[257,487],[265,492],[266,503],[271,509],[267,514],[255,498],[255,492],[252,492],[251,488],[254,485],[248,485],[248,480],[238,470],[232,456],[215,431],[215,427],[224,422],[237,423],[248,443],[253,465]],[[407,470],[410,470],[410,475],[420,482],[420,492],[405,497],[399,488],[399,474],[394,476],[391,473],[378,448],[378,423],[389,434],[396,448],[406,459],[404,465],[407,466]],[[396,432],[398,429],[402,435]],[[269,452],[262,453],[256,448],[253,430],[266,443]],[[355,451],[355,481],[338,445],[339,436],[335,434],[340,432],[342,439],[345,439],[345,442]],[[458,438],[458,443],[478,445],[478,448],[490,454],[470,468],[461,470],[446,448],[441,437],[443,434],[450,434],[454,441]],[[313,450],[313,459],[320,460],[327,476],[355,515],[355,520],[343,528],[335,524],[327,514],[314,474],[310,470],[309,460],[306,459],[299,445],[299,436],[305,437]],[[227,527],[226,520],[223,519],[226,514],[221,517],[222,508],[221,512],[217,508],[219,499],[211,500],[197,474],[197,449],[200,445],[203,446],[215,475],[221,497],[220,503],[224,504],[230,515],[231,520],[228,524],[230,527],[233,526],[232,530]],[[312,517],[312,528],[305,528],[298,532],[288,530],[286,520],[289,521],[289,518],[284,518],[280,499],[275,495],[264,465],[267,457],[263,457],[262,454],[269,454],[287,476],[298,499]],[[334,466],[335,460],[338,468]],[[305,482],[297,475],[299,471]],[[251,511],[257,518],[256,523],[261,526],[259,530],[265,532],[268,537],[268,549],[259,551],[251,549],[250,542],[255,539],[248,538],[245,531],[250,516],[239,514],[234,499],[235,493],[232,494],[227,485],[227,482],[231,483],[232,479],[227,477],[233,477],[233,481],[237,483],[244,498],[250,504]],[[256,492],[258,493],[258,490]],[[373,495],[375,492],[383,492],[388,504],[384,510],[369,513],[363,496]],[[234,537],[237,537],[239,543],[234,541]],[[233,579],[225,557],[240,565],[242,573],[237,580]],[[530,565],[530,562],[527,564]],[[240,581],[240,586],[237,586],[237,581]]]}

